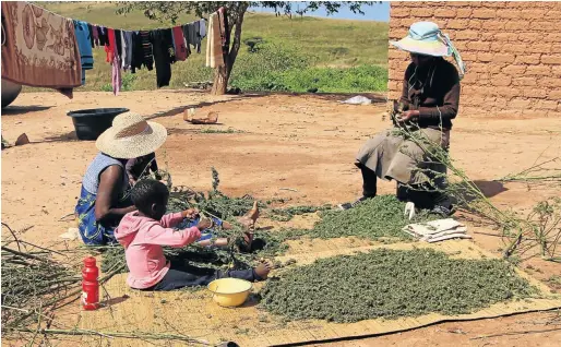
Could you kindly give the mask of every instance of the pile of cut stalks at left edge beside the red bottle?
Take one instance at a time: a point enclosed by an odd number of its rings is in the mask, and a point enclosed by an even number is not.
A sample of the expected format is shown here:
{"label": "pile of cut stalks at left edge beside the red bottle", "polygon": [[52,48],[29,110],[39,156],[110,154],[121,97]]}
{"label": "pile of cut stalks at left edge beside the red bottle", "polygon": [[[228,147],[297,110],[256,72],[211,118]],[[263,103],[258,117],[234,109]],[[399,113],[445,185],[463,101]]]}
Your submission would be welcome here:
{"label": "pile of cut stalks at left edge beside the red bottle", "polygon": [[13,239],[2,244],[2,334],[10,336],[80,297],[75,267],[53,260],[60,252]]}

